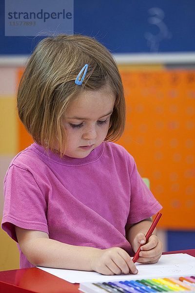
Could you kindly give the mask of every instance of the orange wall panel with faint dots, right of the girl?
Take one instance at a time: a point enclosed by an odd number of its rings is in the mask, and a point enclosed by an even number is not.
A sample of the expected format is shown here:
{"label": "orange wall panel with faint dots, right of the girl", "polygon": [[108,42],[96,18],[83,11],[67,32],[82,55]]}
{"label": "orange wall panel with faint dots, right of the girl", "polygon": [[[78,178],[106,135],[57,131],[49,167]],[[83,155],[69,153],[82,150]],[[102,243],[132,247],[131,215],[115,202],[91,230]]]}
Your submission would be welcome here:
{"label": "orange wall panel with faint dots, right of the girl", "polygon": [[150,179],[163,206],[159,226],[195,229],[195,71],[120,73],[127,122],[117,143],[134,156],[140,175]]}

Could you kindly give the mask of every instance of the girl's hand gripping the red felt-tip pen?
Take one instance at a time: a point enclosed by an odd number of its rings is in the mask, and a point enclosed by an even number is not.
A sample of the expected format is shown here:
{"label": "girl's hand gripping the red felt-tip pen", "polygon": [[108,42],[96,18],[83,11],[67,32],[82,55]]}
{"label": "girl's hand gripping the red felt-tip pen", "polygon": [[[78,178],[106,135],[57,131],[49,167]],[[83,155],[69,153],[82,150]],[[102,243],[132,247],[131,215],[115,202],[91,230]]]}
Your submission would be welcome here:
{"label": "girl's hand gripping the red felt-tip pen", "polygon": [[139,258],[137,262],[142,264],[154,264],[162,255],[162,242],[156,235],[151,235],[146,243],[146,237],[144,233],[138,233],[134,240],[133,250],[136,252],[140,244],[141,251],[139,252]]}

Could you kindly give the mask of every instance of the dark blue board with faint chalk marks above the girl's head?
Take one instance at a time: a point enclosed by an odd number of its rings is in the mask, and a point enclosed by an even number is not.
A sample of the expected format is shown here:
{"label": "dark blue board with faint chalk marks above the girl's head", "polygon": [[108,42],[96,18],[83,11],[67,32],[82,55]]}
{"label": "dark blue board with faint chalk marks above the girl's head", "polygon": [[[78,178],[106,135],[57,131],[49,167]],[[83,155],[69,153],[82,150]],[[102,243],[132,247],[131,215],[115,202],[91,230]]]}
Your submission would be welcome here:
{"label": "dark blue board with faint chalk marks above the girl's head", "polygon": [[[74,0],[74,31],[114,53],[195,51],[195,1]],[[0,1],[0,54],[29,54],[40,39],[5,37]]]}

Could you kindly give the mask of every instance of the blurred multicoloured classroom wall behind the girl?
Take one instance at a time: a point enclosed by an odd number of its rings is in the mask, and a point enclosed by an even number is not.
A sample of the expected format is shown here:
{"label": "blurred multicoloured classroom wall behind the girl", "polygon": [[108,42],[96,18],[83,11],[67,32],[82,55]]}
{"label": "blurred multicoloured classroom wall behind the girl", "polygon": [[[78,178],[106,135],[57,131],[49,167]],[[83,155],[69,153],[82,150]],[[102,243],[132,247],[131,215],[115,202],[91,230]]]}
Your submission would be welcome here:
{"label": "blurred multicoloured classroom wall behind the girl", "polygon": [[[0,220],[6,170],[33,143],[18,119],[16,91],[28,56],[44,38],[18,36],[17,19],[5,21],[8,2],[13,1],[0,1]],[[61,11],[65,2],[35,0],[29,7]],[[163,251],[195,248],[195,1],[74,0],[72,21],[68,31],[63,20],[47,29],[95,37],[117,61],[127,104],[125,132],[117,143],[134,156],[163,206]],[[0,240],[0,271],[19,268],[16,243],[1,229]]]}

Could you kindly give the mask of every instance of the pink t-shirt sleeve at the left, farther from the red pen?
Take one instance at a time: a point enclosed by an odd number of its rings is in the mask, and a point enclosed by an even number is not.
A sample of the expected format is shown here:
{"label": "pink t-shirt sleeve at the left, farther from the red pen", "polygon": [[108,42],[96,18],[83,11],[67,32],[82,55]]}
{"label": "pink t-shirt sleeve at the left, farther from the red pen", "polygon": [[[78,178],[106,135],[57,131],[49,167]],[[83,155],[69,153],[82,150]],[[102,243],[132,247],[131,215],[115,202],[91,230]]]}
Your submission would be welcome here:
{"label": "pink t-shirt sleeve at the left, farther from the red pen", "polygon": [[15,226],[48,233],[46,196],[29,170],[12,165],[4,180],[1,227],[17,241]]}

